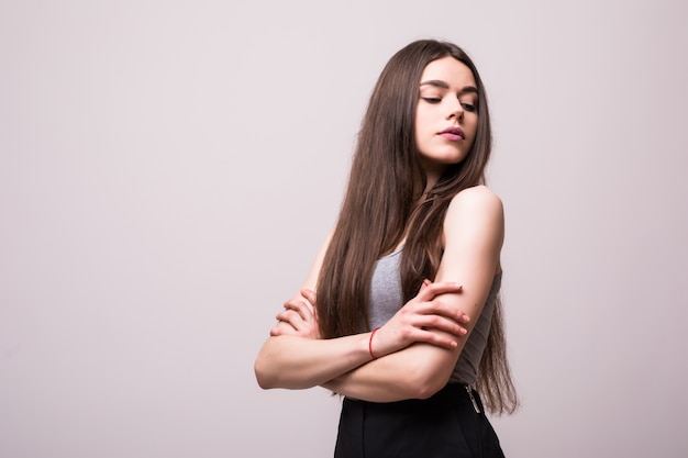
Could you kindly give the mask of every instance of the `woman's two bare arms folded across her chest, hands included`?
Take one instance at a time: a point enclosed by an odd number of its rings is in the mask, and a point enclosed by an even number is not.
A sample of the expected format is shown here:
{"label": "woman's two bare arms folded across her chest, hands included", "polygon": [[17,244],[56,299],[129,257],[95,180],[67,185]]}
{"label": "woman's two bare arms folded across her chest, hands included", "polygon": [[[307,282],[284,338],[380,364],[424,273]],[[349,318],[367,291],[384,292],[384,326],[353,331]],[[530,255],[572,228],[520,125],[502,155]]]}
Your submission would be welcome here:
{"label": "woman's two bare arms folded across her chest, hands included", "polygon": [[[424,399],[446,384],[499,270],[503,242],[499,198],[479,186],[459,192],[444,221],[444,255],[428,281],[370,340],[370,333],[320,338],[313,292],[321,248],[303,287],[255,361],[262,388],[321,386],[374,402]],[[376,358],[369,351],[373,348]]]}

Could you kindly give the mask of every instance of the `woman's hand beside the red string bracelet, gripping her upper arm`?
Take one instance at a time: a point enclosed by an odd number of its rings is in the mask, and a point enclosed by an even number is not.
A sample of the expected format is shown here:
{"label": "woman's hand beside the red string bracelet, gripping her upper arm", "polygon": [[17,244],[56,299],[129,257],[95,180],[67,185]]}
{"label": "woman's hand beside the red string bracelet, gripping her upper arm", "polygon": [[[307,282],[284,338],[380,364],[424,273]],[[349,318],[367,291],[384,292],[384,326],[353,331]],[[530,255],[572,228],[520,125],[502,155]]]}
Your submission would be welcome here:
{"label": "woman's hand beside the red string bracelet, gripping her upper arm", "polygon": [[[415,298],[407,302],[375,333],[371,342],[373,353],[380,357],[417,342],[455,348],[456,338],[466,335],[467,332],[463,324],[468,323],[470,319],[455,306],[435,298],[441,294],[459,293],[462,289],[463,287],[457,283],[431,283],[425,280]],[[452,337],[433,331],[444,331]]]}

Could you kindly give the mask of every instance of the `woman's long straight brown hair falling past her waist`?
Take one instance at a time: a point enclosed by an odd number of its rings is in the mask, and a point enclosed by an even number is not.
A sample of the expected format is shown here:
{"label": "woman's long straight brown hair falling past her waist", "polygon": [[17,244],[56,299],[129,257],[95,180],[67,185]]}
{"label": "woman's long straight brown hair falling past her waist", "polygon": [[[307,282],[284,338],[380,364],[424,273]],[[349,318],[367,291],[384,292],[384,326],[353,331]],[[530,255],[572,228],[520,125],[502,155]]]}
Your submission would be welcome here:
{"label": "woman's long straight brown hair falling past her waist", "polygon": [[[419,83],[425,66],[446,56],[473,71],[478,89],[478,125],[467,157],[448,166],[423,196],[426,178],[414,129]],[[463,49],[446,42],[422,40],[391,57],[363,119],[348,188],[320,271],[317,312],[322,336],[339,337],[369,328],[373,267],[404,236],[400,266],[404,302],[415,297],[423,279],[435,277],[448,204],[460,190],[485,182],[491,144],[485,88]],[[501,310],[497,305],[477,386],[490,411],[513,412],[518,400],[506,358]]]}

